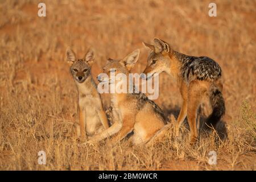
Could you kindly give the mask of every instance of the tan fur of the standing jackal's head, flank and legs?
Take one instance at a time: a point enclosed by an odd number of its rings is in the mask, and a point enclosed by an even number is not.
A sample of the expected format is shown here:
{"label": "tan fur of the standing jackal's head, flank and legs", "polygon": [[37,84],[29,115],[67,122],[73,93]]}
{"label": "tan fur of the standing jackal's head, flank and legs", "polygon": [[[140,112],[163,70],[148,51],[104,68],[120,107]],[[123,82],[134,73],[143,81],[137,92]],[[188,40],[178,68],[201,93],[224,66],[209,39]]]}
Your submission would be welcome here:
{"label": "tan fur of the standing jackal's head, flank and legs", "polygon": [[[185,117],[188,117],[188,123],[191,129],[191,143],[193,144],[197,140],[197,109],[203,98],[209,96],[211,85],[216,85],[220,91],[222,90],[221,80],[218,79],[211,82],[209,80],[200,81],[190,78],[191,81],[185,82],[180,74],[181,61],[176,57],[174,51],[166,42],[160,39],[154,39],[154,42],[154,46],[144,43],[144,46],[150,48],[152,51],[150,56],[148,56],[147,67],[143,73],[151,73],[153,75],[154,73],[166,72],[177,80],[177,86],[183,98],[183,105],[177,118],[175,135],[176,137],[179,136],[180,125]],[[157,51],[155,51],[156,49]]]}

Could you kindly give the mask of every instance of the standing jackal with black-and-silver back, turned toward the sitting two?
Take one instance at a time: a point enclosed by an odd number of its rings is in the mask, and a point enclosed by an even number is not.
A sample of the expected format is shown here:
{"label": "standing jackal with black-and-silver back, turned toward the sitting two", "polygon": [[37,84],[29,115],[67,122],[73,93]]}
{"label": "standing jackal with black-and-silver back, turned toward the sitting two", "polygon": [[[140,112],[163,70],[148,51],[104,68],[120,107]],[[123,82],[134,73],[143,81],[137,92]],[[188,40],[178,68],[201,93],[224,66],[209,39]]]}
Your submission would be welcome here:
{"label": "standing jackal with black-and-silver back, turned toward the sitting two", "polygon": [[152,51],[147,59],[144,74],[166,72],[177,80],[183,98],[183,105],[175,127],[176,137],[179,136],[179,127],[188,116],[191,130],[191,144],[197,140],[196,117],[203,97],[208,97],[213,112],[206,123],[216,127],[222,115],[225,114],[225,102],[222,96],[221,68],[212,59],[206,56],[187,56],[171,49],[168,43],[154,39],[154,45],[144,43]]}

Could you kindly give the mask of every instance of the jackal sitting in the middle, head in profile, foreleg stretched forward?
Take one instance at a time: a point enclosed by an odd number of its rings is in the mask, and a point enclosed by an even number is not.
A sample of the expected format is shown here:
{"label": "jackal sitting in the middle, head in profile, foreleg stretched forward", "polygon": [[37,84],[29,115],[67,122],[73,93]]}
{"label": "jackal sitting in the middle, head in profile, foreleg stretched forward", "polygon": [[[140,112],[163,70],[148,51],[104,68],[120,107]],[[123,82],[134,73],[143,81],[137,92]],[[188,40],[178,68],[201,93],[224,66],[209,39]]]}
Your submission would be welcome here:
{"label": "jackal sitting in the middle, head in profile, foreleg stretched forward", "polygon": [[[111,80],[110,73],[117,75],[123,73],[128,77],[131,68],[138,61],[139,49],[131,52],[121,60],[109,59],[103,68],[108,77],[98,77],[99,81],[106,81],[109,85],[115,82],[120,84],[121,80]],[[98,140],[113,136],[112,143],[126,137],[133,131],[133,143],[145,144],[156,134],[160,133],[167,118],[163,111],[143,93],[110,93],[111,105],[113,107],[114,124],[109,129],[91,138],[87,143],[92,144]],[[162,132],[161,132],[162,133]],[[150,142],[151,143],[151,142]]]}

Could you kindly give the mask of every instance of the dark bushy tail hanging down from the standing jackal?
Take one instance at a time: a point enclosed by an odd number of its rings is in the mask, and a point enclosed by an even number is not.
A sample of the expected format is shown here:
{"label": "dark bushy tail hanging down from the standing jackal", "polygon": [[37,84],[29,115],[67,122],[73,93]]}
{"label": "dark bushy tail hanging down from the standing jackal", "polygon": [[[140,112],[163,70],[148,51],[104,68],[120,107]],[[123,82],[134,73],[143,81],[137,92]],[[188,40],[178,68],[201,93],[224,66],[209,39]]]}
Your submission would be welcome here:
{"label": "dark bushy tail hanging down from the standing jackal", "polygon": [[214,85],[210,89],[209,98],[213,111],[207,118],[206,124],[215,128],[218,121],[220,121],[221,117],[225,114],[225,101],[221,90]]}

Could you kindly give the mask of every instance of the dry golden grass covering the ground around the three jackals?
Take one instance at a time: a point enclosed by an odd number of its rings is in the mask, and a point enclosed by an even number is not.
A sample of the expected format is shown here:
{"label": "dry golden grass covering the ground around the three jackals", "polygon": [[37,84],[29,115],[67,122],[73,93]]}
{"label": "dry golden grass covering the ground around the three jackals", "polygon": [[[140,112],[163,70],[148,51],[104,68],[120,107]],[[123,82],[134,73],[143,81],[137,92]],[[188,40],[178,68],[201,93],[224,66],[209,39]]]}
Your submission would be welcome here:
{"label": "dry golden grass covering the ground around the three jackals", "polygon": [[[46,18],[37,16],[38,3],[0,2],[0,169],[256,169],[255,1],[217,1],[216,18],[208,16],[208,1],[46,1]],[[64,62],[65,48],[83,56],[94,47],[94,76],[106,57],[121,58],[141,48],[133,69],[141,73],[148,55],[142,41],[154,37],[220,63],[224,133],[202,131],[197,146],[189,146],[184,124],[179,144],[171,127],[154,147],[133,147],[129,141],[111,147],[106,141],[78,148],[72,131],[77,91]],[[156,103],[177,117],[181,97],[175,82],[163,73],[159,90]],[[108,96],[104,104],[108,107]],[[46,165],[38,164],[40,150],[46,151]],[[218,160],[211,166],[212,150]]]}

